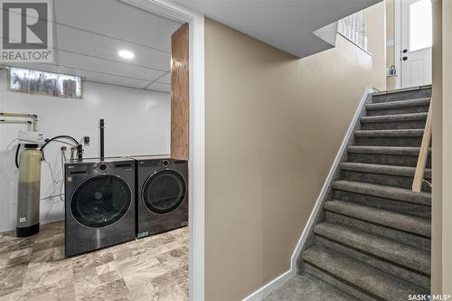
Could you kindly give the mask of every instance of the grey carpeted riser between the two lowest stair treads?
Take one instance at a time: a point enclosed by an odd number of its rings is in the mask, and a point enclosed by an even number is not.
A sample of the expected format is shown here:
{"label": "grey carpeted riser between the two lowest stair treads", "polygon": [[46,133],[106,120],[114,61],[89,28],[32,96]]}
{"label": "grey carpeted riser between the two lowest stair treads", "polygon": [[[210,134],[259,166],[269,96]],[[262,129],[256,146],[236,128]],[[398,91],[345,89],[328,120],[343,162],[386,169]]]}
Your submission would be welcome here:
{"label": "grey carpeted riser between the two lowest stair treads", "polygon": [[[338,243],[334,240],[328,238],[323,238],[320,236],[316,237],[317,243],[319,245],[325,246],[329,249],[334,249],[335,251],[352,257],[358,261],[372,266],[373,268],[379,268],[382,271],[400,277],[410,283],[418,285],[419,287],[428,288],[430,285],[430,278],[421,275],[417,271],[413,271],[410,268],[405,268],[397,265],[397,262],[391,262],[386,259],[380,259],[378,256],[369,254],[363,250],[353,249],[351,246],[343,243]],[[429,271],[428,271],[429,272]]]}

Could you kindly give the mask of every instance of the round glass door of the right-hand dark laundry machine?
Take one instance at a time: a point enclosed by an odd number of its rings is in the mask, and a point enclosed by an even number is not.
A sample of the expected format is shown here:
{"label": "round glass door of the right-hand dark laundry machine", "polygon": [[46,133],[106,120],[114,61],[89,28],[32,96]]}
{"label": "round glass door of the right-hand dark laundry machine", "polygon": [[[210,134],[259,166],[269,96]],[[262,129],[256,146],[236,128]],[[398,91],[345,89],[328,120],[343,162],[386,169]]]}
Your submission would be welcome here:
{"label": "round glass door of the right-hand dark laundry machine", "polygon": [[184,202],[187,186],[184,177],[174,170],[161,170],[147,178],[142,198],[146,208],[157,214],[173,212]]}

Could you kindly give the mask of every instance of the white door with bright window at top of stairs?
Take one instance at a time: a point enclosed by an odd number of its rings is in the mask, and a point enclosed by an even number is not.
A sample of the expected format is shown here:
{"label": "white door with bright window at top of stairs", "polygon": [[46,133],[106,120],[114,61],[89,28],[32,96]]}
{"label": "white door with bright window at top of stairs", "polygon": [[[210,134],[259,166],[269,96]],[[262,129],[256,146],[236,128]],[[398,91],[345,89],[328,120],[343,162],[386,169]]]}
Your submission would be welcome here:
{"label": "white door with bright window at top of stairs", "polygon": [[401,0],[401,88],[431,84],[431,0]]}

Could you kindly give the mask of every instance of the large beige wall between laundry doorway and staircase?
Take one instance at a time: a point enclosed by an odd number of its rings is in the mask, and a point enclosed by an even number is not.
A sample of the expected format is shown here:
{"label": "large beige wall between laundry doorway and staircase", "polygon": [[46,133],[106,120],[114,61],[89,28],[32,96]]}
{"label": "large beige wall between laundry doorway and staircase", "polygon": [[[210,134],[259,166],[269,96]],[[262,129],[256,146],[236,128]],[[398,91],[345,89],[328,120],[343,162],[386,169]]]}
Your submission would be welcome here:
{"label": "large beige wall between laundry doorway and staircase", "polygon": [[338,37],[303,60],[206,19],[206,300],[239,300],[290,257],[372,58]]}

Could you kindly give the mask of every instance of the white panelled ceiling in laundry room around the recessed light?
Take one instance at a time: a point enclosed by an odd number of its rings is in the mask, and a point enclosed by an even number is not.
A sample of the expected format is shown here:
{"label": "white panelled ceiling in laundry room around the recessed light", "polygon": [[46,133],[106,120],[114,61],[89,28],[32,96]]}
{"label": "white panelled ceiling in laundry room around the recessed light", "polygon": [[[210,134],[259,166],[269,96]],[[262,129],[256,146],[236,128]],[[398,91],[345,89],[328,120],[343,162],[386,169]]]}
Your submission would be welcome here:
{"label": "white panelled ceiling in laundry room around the recessed light", "polygon": [[[169,92],[171,34],[181,24],[119,0],[54,0],[52,64],[14,64]],[[135,53],[125,60],[119,50]]]}

